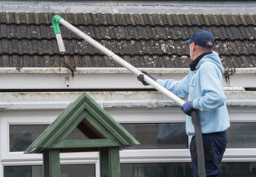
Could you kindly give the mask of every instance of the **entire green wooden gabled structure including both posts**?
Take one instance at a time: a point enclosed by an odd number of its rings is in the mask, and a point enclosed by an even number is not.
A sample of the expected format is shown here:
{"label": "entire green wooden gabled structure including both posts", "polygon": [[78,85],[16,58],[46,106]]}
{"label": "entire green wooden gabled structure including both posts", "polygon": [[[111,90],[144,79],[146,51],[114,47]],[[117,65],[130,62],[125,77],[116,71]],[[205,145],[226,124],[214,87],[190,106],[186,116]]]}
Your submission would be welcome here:
{"label": "entire green wooden gabled structure including both posts", "polygon": [[[67,139],[76,128],[85,139]],[[139,145],[85,92],[24,153],[43,153],[44,177],[61,177],[59,153],[99,151],[101,176],[120,177],[120,148]]]}

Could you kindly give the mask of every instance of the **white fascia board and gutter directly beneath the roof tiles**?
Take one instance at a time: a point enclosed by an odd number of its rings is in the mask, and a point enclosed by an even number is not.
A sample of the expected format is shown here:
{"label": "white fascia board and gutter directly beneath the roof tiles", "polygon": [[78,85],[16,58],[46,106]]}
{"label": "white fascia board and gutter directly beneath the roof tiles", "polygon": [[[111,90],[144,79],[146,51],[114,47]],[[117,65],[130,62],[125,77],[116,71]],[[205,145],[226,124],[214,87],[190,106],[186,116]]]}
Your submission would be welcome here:
{"label": "white fascia board and gutter directly beneath the roof tiles", "polygon": [[[141,68],[159,79],[181,80],[188,68]],[[256,87],[256,68],[236,69],[224,87]],[[124,68],[77,68],[75,76],[66,68],[1,68],[0,89],[146,89]]]}

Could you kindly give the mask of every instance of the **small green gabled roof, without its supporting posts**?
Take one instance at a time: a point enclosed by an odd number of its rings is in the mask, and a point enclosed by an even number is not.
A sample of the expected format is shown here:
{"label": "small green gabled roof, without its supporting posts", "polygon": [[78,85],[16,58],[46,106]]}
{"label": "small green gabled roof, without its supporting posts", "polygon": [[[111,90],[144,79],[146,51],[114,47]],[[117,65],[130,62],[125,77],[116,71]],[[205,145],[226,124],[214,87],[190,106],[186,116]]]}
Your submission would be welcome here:
{"label": "small green gabled roof, without its supporting posts", "polygon": [[[66,139],[78,128],[88,139]],[[85,92],[41,133],[25,153],[58,148],[61,152],[97,151],[98,147],[139,145],[118,122]]]}

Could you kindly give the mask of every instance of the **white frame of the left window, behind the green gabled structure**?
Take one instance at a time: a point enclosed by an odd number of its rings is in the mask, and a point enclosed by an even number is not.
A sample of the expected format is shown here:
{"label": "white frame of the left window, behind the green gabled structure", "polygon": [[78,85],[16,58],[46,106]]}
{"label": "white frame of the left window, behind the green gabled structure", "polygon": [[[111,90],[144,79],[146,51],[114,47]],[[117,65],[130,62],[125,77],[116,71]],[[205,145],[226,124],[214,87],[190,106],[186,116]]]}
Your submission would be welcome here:
{"label": "white frame of the left window, behind the green gabled structure", "polygon": [[[10,125],[46,125],[52,123],[62,110],[2,111],[0,114],[0,177],[4,166],[43,165],[41,154],[10,152]],[[61,153],[61,164],[95,164],[95,176],[100,176],[97,152]]]}

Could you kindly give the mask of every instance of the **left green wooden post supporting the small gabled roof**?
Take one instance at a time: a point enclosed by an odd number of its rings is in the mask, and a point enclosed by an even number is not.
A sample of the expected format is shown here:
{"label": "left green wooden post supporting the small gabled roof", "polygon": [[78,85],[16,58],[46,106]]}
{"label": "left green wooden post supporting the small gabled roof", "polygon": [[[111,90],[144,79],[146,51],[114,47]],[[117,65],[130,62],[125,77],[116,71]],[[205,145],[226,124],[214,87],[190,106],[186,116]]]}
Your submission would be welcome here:
{"label": "left green wooden post supporting the small gabled roof", "polygon": [[44,177],[61,177],[61,163],[58,149],[44,150]]}

